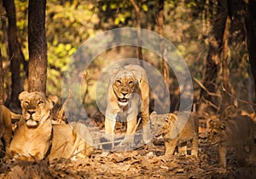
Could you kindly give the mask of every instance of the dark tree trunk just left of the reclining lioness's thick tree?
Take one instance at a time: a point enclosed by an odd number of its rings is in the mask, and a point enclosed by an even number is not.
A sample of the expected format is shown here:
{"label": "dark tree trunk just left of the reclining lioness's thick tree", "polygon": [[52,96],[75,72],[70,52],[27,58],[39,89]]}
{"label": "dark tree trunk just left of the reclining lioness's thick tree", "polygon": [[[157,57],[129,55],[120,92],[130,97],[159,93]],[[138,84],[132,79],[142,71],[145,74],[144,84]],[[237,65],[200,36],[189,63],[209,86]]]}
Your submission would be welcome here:
{"label": "dark tree trunk just left of the reclining lioness's thick tree", "polygon": [[25,61],[25,58],[21,51],[20,43],[18,41],[14,0],[3,0],[3,5],[6,9],[6,13],[8,16],[8,46],[12,74],[12,91],[9,101],[9,107],[13,110],[18,110],[18,108],[20,108],[20,101],[18,100],[18,96],[23,90],[20,78],[20,62]]}

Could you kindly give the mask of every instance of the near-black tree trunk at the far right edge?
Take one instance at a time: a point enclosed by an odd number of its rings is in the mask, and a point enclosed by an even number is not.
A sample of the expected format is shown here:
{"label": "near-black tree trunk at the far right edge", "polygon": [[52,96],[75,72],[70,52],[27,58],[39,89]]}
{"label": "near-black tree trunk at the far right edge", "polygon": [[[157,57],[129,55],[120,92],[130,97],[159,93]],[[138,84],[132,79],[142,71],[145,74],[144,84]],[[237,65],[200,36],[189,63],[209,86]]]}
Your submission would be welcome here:
{"label": "near-black tree trunk at the far right edge", "polygon": [[[254,94],[256,95],[256,20],[255,11],[256,3],[254,1],[249,1],[247,4],[247,10],[245,12],[245,29],[247,38],[247,49],[249,53],[249,62],[252,68],[253,81],[254,81]],[[254,96],[254,102],[256,102]]]}

